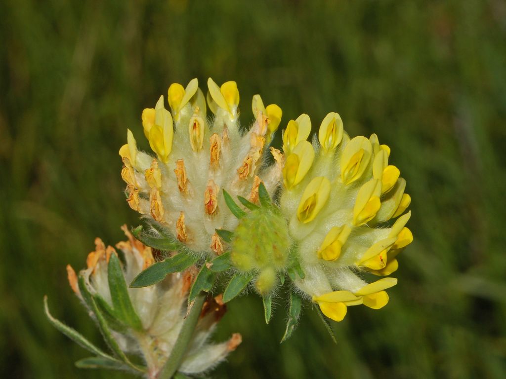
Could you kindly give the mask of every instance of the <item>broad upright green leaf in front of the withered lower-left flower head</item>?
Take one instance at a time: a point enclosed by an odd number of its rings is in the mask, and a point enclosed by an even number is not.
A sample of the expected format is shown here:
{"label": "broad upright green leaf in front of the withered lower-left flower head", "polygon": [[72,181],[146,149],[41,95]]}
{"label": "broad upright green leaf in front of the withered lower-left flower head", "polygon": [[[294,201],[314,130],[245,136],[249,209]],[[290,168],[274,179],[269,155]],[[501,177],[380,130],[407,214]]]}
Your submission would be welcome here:
{"label": "broad upright green leaf in front of the withered lower-left flower head", "polygon": [[107,266],[107,279],[111,293],[112,307],[114,314],[120,321],[131,326],[135,330],[142,330],[142,322],[130,299],[128,288],[126,288],[123,270],[119,264],[116,254],[111,254]]}

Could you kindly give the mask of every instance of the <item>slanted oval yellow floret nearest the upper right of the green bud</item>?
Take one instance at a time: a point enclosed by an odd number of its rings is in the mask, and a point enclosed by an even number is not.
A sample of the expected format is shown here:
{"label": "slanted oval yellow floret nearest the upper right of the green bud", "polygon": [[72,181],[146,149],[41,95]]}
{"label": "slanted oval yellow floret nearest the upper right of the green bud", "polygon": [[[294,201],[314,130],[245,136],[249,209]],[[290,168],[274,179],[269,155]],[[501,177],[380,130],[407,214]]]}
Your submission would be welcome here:
{"label": "slanted oval yellow floret nearest the upper right of the green bud", "polygon": [[313,178],[302,194],[297,218],[302,223],[315,219],[330,195],[330,181],[324,176]]}

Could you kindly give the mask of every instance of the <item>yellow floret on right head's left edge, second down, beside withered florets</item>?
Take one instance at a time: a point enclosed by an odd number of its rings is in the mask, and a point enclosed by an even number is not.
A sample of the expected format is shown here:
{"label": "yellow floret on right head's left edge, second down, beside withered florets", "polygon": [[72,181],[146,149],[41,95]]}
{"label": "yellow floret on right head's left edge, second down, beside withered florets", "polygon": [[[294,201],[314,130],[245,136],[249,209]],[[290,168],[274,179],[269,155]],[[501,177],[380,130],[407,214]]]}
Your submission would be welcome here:
{"label": "yellow floret on right head's left edge, second down, beside withered florets", "polygon": [[306,176],[314,160],[313,146],[306,140],[301,141],[286,158],[283,179],[287,189],[299,184]]}

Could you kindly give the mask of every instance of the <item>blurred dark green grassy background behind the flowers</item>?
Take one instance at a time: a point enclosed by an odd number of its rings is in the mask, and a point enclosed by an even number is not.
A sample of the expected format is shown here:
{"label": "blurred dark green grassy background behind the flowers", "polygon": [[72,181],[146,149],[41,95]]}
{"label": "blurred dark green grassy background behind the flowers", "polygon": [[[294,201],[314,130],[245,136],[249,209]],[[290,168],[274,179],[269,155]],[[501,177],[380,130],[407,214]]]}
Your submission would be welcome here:
{"label": "blurred dark green grassy background behind the flowers", "polygon": [[[243,345],[214,377],[506,375],[506,5],[500,0],[0,2],[0,376],[83,371],[89,354],[43,315],[103,346],[67,285],[95,236],[139,224],[117,154],[172,82],[236,80],[283,109],[282,127],[339,112],[378,134],[407,180],[415,241],[379,311],[353,307],[334,345],[308,306],[279,344],[260,298],[232,302],[216,339]],[[205,85],[201,85],[205,88]],[[279,134],[279,133],[278,133]]]}

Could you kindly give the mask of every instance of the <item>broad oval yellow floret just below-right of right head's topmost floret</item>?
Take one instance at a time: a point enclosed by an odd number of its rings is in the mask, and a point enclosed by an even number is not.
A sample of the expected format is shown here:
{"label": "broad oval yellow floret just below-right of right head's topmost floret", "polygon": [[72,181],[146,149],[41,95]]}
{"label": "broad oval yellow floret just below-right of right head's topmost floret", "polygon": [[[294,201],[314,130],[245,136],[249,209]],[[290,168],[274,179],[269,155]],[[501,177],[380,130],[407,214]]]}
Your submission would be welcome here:
{"label": "broad oval yellow floret just below-right of right head's topmost floret", "polygon": [[350,140],[341,157],[341,180],[350,184],[358,180],[367,168],[372,154],[369,140],[358,136]]}

